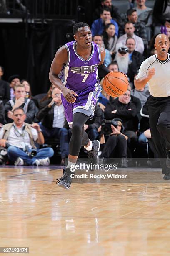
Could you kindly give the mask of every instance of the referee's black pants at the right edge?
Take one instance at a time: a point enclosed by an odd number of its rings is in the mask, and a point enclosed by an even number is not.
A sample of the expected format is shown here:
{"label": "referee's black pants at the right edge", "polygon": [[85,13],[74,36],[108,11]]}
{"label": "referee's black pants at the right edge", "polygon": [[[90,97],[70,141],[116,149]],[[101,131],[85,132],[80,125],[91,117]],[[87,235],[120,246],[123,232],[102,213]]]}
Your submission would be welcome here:
{"label": "referee's black pants at the right edge", "polygon": [[149,124],[155,150],[161,160],[163,174],[169,173],[166,166],[167,151],[170,150],[170,96],[148,98]]}

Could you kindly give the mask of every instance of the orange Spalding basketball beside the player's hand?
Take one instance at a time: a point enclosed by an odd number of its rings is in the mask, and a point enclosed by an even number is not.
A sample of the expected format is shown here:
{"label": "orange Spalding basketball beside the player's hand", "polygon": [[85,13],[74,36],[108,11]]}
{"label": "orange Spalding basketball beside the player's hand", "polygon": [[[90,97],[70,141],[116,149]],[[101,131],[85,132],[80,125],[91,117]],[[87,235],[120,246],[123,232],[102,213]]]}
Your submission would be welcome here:
{"label": "orange Spalding basketball beside the player's hand", "polygon": [[104,77],[102,87],[108,95],[119,97],[128,90],[128,78],[121,72],[110,72]]}

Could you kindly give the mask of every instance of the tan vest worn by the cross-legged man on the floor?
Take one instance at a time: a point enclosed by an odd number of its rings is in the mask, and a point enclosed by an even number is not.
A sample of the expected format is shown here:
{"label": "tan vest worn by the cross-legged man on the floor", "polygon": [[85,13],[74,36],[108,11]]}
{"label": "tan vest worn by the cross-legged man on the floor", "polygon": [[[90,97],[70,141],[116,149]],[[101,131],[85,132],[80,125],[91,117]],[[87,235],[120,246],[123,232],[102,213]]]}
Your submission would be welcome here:
{"label": "tan vest worn by the cross-legged man on the floor", "polygon": [[[25,131],[28,132],[29,137],[30,137],[30,144],[32,146],[32,148],[36,148],[35,143],[34,143],[34,139],[32,136],[32,132],[31,132],[31,126],[29,123],[24,123],[25,125]],[[3,139],[7,140],[8,136],[9,136],[9,132],[10,129],[12,128],[13,123],[7,123],[5,125],[3,125],[3,129],[4,129],[4,134],[3,134]]]}

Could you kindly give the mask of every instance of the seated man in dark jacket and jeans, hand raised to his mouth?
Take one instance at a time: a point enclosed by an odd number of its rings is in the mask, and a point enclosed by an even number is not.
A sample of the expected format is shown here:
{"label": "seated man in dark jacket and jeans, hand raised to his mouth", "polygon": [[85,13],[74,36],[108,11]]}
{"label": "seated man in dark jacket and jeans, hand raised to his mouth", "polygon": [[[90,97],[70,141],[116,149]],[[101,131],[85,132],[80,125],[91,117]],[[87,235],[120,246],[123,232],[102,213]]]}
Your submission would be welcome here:
{"label": "seated man in dark jacket and jeans, hand raised to his mouth", "polygon": [[61,149],[61,165],[65,165],[68,156],[69,136],[65,128],[65,113],[61,102],[61,91],[54,87],[49,100],[44,102],[43,108],[37,113],[36,118],[42,121],[40,128],[45,138],[58,138]]}

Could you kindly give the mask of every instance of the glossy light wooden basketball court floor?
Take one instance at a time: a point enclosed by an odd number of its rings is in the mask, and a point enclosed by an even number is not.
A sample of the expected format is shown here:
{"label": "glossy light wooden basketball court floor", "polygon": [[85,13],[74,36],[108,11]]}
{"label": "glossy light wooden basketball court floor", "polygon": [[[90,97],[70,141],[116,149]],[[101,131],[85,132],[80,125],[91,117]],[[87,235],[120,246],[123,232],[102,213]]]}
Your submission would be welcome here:
{"label": "glossy light wooden basketball court floor", "polygon": [[36,256],[170,255],[170,181],[160,169],[126,170],[137,181],[147,172],[152,183],[64,190],[57,168],[0,168],[0,247],[29,247]]}

